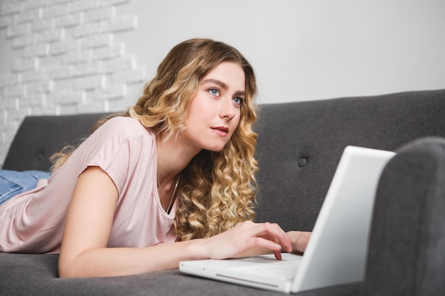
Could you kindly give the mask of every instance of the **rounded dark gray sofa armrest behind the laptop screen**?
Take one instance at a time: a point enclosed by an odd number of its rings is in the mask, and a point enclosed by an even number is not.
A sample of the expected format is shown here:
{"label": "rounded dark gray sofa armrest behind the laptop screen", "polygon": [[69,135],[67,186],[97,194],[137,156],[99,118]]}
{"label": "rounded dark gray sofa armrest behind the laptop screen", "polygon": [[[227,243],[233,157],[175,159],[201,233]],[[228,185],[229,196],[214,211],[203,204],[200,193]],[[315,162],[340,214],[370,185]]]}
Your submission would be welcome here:
{"label": "rounded dark gray sofa armrest behind the laptop screen", "polygon": [[377,188],[363,295],[445,295],[445,139],[397,151]]}

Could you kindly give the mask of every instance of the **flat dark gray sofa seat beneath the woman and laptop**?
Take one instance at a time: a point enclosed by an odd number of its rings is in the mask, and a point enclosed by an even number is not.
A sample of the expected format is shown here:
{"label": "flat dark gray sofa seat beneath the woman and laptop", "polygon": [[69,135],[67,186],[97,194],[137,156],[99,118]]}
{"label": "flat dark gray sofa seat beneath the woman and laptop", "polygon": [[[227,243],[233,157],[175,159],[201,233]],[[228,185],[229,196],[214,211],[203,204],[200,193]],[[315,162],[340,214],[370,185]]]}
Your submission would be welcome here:
{"label": "flat dark gray sofa seat beneath the woman and laptop", "polygon": [[[230,285],[214,280],[183,275],[178,270],[146,273],[117,278],[55,278],[58,256],[0,253],[1,295],[64,295],[64,296],[196,296],[281,295],[277,292]],[[355,296],[360,285],[353,283],[337,287],[308,291],[304,296]]]}

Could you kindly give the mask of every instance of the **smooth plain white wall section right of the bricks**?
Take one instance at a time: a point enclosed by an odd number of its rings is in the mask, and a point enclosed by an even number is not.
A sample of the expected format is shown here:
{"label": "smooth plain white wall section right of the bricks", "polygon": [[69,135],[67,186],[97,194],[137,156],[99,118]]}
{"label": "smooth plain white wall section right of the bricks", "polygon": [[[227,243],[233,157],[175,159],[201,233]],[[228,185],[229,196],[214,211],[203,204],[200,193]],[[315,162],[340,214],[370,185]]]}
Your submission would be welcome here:
{"label": "smooth plain white wall section right of the bricks", "polygon": [[261,102],[445,87],[443,0],[167,0],[122,9],[141,12],[119,40],[150,75],[179,41],[216,38],[252,62]]}

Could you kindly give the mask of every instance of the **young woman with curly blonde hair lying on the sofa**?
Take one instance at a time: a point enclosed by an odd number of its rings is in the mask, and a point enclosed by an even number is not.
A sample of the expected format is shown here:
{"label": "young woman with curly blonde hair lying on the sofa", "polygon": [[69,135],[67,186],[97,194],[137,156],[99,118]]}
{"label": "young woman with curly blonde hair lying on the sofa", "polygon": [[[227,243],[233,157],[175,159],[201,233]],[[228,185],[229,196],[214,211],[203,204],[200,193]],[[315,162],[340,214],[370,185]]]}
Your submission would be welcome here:
{"label": "young woman with curly blonde hair lying on the sofa", "polygon": [[176,45],[134,106],[56,154],[48,180],[1,204],[0,251],[60,253],[60,277],[304,251],[308,233],[252,222],[255,94],[235,48]]}

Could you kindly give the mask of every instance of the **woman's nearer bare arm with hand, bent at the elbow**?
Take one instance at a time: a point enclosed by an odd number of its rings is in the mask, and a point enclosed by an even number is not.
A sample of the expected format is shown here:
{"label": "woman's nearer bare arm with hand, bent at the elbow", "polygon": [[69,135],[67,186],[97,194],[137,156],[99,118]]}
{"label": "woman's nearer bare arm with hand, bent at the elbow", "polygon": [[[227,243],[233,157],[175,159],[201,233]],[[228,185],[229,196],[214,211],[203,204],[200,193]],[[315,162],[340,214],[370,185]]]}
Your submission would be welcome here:
{"label": "woman's nearer bare arm with hand, bent at the elbow", "polygon": [[80,175],[68,209],[60,250],[62,278],[114,276],[178,268],[179,261],[230,258],[267,249],[280,258],[291,241],[277,224],[242,223],[210,239],[146,248],[107,248],[117,189],[107,173],[89,167]]}

